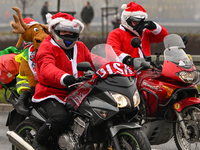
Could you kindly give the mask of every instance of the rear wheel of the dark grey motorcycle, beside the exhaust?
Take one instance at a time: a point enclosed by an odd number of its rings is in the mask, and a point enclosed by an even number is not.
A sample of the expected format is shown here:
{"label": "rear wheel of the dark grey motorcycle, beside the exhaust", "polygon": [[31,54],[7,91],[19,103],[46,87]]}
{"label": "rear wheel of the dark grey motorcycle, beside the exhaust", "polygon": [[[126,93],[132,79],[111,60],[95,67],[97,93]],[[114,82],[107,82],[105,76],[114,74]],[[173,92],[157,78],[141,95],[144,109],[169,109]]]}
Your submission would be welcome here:
{"label": "rear wheel of the dark grey motorcycle, beside the exhaust", "polygon": [[[35,134],[39,130],[40,126],[41,125],[39,123],[30,119],[27,119],[27,120],[22,121],[17,126],[17,128],[15,129],[15,133],[17,133],[27,143],[31,145],[35,137]],[[19,149],[16,148],[14,145],[12,145],[12,150],[19,150]]]}

